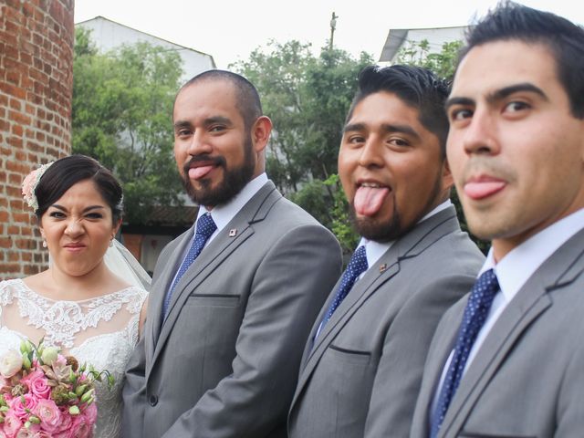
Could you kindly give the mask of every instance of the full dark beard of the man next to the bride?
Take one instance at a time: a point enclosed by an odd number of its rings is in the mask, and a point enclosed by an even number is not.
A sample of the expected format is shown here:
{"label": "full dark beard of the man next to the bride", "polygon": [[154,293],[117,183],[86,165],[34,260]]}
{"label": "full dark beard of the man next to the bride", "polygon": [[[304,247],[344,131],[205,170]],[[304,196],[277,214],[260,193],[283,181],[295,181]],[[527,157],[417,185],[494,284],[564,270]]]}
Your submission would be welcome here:
{"label": "full dark beard of the man next to the bride", "polygon": [[[244,162],[233,169],[227,168],[227,163],[224,157],[221,156],[197,155],[186,162],[183,167],[183,186],[186,193],[193,200],[193,203],[215,207],[217,205],[224,205],[235,198],[235,195],[240,193],[245,187],[245,184],[249,183],[254,176],[255,160],[253,150],[251,137],[247,138],[244,144]],[[211,180],[203,178],[199,181],[202,188],[195,189],[189,178],[189,169],[193,162],[213,162],[215,166],[223,167],[223,181],[218,183],[216,187],[211,188]]]}

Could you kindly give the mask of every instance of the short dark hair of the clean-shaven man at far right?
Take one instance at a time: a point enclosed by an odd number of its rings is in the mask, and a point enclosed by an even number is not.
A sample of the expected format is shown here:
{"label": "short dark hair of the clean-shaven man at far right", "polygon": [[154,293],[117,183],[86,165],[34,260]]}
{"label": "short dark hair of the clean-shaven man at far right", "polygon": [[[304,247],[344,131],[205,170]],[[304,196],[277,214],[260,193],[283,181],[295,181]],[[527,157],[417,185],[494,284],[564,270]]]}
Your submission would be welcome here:
{"label": "short dark hair of the clean-shaven man at far right", "polygon": [[473,47],[512,39],[548,47],[572,115],[584,119],[584,28],[550,12],[504,1],[469,28],[459,63]]}

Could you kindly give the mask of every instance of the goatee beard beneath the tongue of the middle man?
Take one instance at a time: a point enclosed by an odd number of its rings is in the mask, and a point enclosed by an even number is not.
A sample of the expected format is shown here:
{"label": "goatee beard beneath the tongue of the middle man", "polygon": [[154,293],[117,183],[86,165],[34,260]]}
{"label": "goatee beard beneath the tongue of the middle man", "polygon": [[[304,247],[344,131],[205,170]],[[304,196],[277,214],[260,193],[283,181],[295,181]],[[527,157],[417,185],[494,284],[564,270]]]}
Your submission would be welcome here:
{"label": "goatee beard beneath the tongue of the middle man", "polygon": [[[391,217],[386,222],[376,221],[375,219],[358,219],[357,214],[355,213],[355,206],[352,203],[349,204],[350,221],[353,226],[355,226],[355,229],[360,236],[374,242],[392,242],[410,232],[410,230],[420,222],[420,219],[422,219],[423,216],[430,213],[430,210],[440,195],[440,189],[441,181],[439,176],[436,179],[436,183],[433,185],[432,192],[429,193],[428,201],[409,224],[401,223],[401,214],[398,211],[395,199],[393,199],[392,203],[393,212],[391,212]],[[394,196],[394,194],[391,193],[391,196]]]}

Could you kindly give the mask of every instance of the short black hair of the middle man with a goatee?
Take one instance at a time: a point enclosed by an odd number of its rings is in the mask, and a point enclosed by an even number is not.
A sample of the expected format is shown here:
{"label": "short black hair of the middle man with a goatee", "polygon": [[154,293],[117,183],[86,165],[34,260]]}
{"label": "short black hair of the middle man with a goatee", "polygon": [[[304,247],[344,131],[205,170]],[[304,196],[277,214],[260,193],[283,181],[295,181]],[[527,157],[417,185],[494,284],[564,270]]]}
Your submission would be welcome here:
{"label": "short black hair of the middle man with a goatee", "polygon": [[446,155],[448,117],[444,103],[450,93],[450,82],[438,78],[427,68],[369,66],[359,74],[359,89],[350,105],[346,123],[357,104],[373,93],[387,91],[420,112],[422,126],[438,137],[443,157]]}

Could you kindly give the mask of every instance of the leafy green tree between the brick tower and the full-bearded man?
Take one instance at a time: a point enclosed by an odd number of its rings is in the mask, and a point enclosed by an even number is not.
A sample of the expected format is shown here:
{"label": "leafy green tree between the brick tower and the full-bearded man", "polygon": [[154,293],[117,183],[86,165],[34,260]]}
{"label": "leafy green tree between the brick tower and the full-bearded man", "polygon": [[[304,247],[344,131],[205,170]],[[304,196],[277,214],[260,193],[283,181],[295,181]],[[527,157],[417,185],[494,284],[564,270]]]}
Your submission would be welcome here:
{"label": "leafy green tree between the brick tower and the full-bearded man", "polygon": [[175,51],[138,43],[100,54],[76,29],[72,150],[116,174],[131,224],[147,223],[154,205],[181,203],[172,103],[182,74]]}

